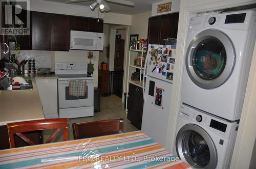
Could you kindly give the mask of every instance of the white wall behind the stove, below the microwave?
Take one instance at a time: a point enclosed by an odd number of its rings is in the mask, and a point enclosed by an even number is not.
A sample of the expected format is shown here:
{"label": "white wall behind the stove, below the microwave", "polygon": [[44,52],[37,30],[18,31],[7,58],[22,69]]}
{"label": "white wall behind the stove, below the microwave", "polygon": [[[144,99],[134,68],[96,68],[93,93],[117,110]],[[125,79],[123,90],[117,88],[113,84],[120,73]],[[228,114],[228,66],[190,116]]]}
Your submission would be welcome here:
{"label": "white wall behind the stove, below the microwave", "polygon": [[[84,62],[90,63],[87,57],[87,50],[70,50],[67,51],[55,51],[54,60],[55,62]],[[92,51],[93,59],[91,61],[94,64],[94,87],[98,87],[98,63],[99,63],[99,51]]]}

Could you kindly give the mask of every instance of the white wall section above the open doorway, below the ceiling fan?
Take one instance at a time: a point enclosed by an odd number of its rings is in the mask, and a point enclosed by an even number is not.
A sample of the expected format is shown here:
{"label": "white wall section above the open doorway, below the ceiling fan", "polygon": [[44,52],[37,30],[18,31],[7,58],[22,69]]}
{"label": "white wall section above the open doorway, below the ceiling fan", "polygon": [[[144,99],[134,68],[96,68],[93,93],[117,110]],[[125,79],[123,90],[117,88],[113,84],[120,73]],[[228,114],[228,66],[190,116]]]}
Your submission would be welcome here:
{"label": "white wall section above the open doorway, below the ceiling fan", "polygon": [[132,16],[118,13],[105,13],[104,23],[131,25]]}

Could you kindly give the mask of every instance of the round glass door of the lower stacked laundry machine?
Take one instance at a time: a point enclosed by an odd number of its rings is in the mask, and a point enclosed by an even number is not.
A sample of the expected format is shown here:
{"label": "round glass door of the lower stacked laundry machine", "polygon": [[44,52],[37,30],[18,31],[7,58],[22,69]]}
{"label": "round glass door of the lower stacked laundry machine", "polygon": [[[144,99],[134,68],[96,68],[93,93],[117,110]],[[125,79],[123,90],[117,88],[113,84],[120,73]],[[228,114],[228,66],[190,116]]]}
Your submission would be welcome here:
{"label": "round glass door of the lower stacked laundry machine", "polygon": [[176,151],[182,161],[195,168],[215,168],[217,151],[209,134],[195,124],[184,125],[176,137]]}

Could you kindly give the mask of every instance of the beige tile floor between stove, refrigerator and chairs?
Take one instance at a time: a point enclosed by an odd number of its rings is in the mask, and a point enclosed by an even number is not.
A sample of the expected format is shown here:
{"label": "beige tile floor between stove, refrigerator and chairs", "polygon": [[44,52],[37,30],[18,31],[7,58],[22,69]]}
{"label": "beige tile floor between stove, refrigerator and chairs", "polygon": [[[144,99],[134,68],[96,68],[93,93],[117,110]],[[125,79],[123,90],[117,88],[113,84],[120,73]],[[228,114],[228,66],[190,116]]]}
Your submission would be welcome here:
{"label": "beige tile floor between stove, refrigerator and chairs", "polygon": [[[117,97],[116,95],[111,95],[107,97],[100,98],[100,112],[94,112],[93,117],[84,117],[84,118],[74,118],[69,119],[68,126],[68,139],[72,140],[73,138],[73,123],[79,122],[88,122],[88,121],[97,121],[97,120],[108,120],[108,119],[120,119],[123,118],[123,131],[137,131],[138,129],[131,124],[131,122],[127,119],[127,114],[124,110],[124,104],[122,103],[122,99]],[[44,131],[44,139],[48,139],[52,131]],[[48,136],[49,135],[49,136]],[[61,134],[59,134],[61,135]],[[62,141],[62,136],[56,137],[54,142]]]}

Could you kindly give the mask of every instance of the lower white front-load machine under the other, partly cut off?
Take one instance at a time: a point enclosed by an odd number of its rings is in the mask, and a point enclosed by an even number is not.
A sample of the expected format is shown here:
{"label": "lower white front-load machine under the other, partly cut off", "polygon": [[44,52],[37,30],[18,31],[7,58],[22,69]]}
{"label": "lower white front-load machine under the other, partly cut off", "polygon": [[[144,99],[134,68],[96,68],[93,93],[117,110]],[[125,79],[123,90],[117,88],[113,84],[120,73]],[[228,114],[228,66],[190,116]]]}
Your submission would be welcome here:
{"label": "lower white front-load machine under the other, partly cut off", "polygon": [[174,152],[195,168],[229,168],[238,123],[182,104]]}

